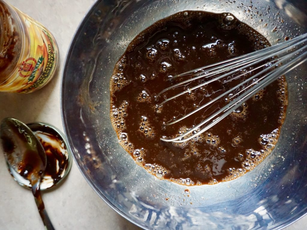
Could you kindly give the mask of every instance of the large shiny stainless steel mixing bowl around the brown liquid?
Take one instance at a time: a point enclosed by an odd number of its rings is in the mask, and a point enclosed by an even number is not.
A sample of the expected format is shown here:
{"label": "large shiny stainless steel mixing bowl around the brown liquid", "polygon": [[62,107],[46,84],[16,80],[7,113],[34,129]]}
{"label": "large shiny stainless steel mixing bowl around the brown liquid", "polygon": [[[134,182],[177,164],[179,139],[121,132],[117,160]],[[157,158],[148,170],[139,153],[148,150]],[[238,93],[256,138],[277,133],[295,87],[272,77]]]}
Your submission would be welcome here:
{"label": "large shiny stainless steel mixing bowl around the brown liquid", "polygon": [[306,32],[306,2],[293,0],[293,4],[101,0],[92,6],[67,55],[62,115],[75,161],[104,201],[146,229],[280,229],[306,213],[306,65],[286,76],[289,107],[274,151],[234,181],[186,187],[157,179],[119,145],[109,117],[109,80],[115,62],[154,21],[183,10],[231,12],[275,44]]}

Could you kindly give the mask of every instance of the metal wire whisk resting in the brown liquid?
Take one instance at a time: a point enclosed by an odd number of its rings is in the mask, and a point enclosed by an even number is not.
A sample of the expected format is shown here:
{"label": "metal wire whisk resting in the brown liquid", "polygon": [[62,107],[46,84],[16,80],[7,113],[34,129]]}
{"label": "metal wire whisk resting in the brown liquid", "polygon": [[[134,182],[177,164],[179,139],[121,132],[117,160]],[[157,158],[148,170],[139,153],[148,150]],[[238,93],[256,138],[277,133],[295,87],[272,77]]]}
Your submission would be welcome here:
{"label": "metal wire whisk resting in the brown liquid", "polygon": [[[265,49],[261,49],[261,50],[258,50],[258,51],[255,51],[255,52],[252,52],[246,55],[242,55],[242,56],[235,57],[229,60],[221,61],[216,64],[211,64],[211,65],[208,65],[202,68],[194,69],[194,70],[174,76],[172,79],[178,78],[178,77],[191,76],[191,75],[192,75],[192,78],[188,80],[184,80],[180,83],[174,84],[170,86],[169,88],[162,90],[157,96],[160,96],[161,94],[173,88],[188,84],[189,82],[197,80],[197,79],[208,79],[208,80],[205,81],[204,83],[198,84],[193,88],[187,89],[181,93],[178,93],[177,95],[174,95],[164,100],[162,103],[160,103],[157,106],[157,109],[170,100],[176,99],[177,97],[185,93],[191,92],[197,88],[208,85],[216,80],[227,79],[223,81],[223,84],[224,84],[229,81],[246,76],[247,73],[252,72],[256,69],[262,68],[260,72],[252,74],[251,77],[237,84],[235,87],[229,89],[228,91],[217,96],[216,98],[212,99],[208,103],[205,103],[204,105],[198,107],[194,111],[184,115],[180,119],[177,119],[167,125],[172,125],[174,123],[177,123],[187,118],[188,116],[191,116],[197,111],[200,111],[204,109],[205,107],[208,107],[209,105],[225,97],[229,93],[235,92],[235,90],[237,91],[239,90],[239,92],[233,94],[229,98],[230,102],[227,105],[225,105],[223,108],[221,108],[219,111],[215,112],[208,118],[204,119],[200,124],[196,125],[195,127],[192,127],[190,130],[188,130],[184,134],[181,134],[173,139],[161,138],[161,140],[165,142],[181,143],[181,142],[191,140],[192,138],[196,138],[203,132],[210,129],[216,123],[224,119],[227,115],[231,114],[231,112],[237,109],[242,103],[247,101],[257,92],[259,92],[261,89],[265,88],[266,86],[271,84],[273,81],[277,80],[282,75],[290,72],[291,70],[296,68],[298,65],[305,62],[307,60],[307,52],[306,52],[307,45],[305,44],[306,41],[307,41],[307,33],[301,36],[295,37],[289,41],[281,42],[277,45],[267,47]],[[242,68],[246,69],[249,67],[253,67],[253,69],[247,72],[244,72],[242,74],[239,74],[237,76],[234,76],[234,74],[240,73],[240,70]],[[268,70],[270,71],[268,72]],[[240,87],[242,87],[245,84],[248,84],[248,85],[245,88],[240,89]]]}

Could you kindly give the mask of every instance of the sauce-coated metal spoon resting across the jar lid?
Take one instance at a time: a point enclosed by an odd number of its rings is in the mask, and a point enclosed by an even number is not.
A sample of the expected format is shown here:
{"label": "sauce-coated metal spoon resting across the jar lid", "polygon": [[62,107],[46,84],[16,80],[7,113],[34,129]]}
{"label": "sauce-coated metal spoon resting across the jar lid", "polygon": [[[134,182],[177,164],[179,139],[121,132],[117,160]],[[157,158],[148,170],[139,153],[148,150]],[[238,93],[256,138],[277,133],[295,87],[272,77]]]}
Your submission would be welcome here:
{"label": "sauce-coated metal spoon resting across the jar lid", "polygon": [[41,198],[40,182],[47,164],[41,143],[29,127],[14,118],[5,118],[1,121],[0,138],[6,163],[12,175],[21,185],[22,179],[30,181],[41,219],[46,229],[54,230]]}

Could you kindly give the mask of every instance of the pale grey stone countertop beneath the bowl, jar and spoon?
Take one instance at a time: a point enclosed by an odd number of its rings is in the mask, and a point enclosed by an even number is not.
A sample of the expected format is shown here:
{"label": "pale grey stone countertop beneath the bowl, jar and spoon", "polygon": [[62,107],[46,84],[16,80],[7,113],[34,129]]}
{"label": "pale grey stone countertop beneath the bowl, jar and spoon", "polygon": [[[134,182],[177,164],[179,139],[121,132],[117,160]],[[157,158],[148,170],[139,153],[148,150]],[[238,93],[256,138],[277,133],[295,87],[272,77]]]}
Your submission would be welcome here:
{"label": "pale grey stone countertop beneath the bowl, jar and spoon", "polygon": [[[52,81],[31,94],[0,93],[0,119],[14,117],[25,123],[47,122],[63,131],[60,114],[60,78],[74,32],[94,0],[7,0],[45,25],[59,46],[59,68]],[[0,152],[2,150],[0,149]],[[0,153],[0,229],[44,229],[33,195],[18,185],[7,171]],[[113,211],[94,190],[73,162],[64,183],[43,192],[50,219],[60,229],[138,230]],[[285,228],[307,229],[307,216]]]}

